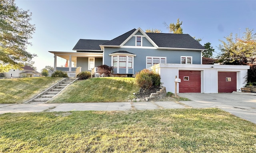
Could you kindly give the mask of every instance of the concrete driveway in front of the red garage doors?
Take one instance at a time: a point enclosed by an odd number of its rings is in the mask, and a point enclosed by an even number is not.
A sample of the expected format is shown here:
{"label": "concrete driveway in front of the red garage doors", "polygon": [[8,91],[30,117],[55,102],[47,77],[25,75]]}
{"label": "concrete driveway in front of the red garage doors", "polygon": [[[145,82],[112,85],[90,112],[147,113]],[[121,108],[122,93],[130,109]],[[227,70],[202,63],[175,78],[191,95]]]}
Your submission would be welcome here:
{"label": "concrete driveway in front of the red garage doors", "polygon": [[234,93],[178,93],[191,101],[180,101],[193,108],[216,107],[256,124],[256,95]]}

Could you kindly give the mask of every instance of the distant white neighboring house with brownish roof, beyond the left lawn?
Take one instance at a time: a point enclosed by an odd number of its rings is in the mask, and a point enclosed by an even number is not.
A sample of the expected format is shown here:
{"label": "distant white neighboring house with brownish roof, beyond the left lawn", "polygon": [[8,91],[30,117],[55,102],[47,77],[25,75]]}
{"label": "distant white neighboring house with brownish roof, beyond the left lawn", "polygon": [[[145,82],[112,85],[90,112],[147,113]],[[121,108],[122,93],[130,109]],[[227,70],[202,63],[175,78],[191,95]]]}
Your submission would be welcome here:
{"label": "distant white neighboring house with brownish roof, beyond the left lawn", "polygon": [[5,73],[7,78],[18,78],[18,77],[39,77],[42,76],[39,72],[35,71],[30,66],[22,67],[22,70],[11,69]]}

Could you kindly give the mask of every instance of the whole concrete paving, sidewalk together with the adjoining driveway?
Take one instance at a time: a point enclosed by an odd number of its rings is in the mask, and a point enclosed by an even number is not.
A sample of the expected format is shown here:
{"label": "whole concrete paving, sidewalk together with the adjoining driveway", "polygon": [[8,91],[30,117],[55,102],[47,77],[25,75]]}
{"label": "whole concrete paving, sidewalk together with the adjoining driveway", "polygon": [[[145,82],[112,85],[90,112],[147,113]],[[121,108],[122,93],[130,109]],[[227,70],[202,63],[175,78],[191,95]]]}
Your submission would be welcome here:
{"label": "whole concrete paving, sidewalk together with the adjoining driveway", "polygon": [[179,93],[191,101],[0,104],[0,114],[41,111],[128,111],[216,107],[256,124],[256,96],[234,93]]}

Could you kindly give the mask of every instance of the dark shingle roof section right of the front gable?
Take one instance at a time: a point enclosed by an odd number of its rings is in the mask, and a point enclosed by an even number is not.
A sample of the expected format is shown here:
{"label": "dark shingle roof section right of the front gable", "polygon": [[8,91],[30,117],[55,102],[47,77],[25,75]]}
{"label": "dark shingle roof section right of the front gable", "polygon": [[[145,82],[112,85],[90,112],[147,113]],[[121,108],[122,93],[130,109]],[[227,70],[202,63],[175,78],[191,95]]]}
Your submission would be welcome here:
{"label": "dark shingle roof section right of the front gable", "polygon": [[146,33],[158,47],[205,49],[189,34]]}

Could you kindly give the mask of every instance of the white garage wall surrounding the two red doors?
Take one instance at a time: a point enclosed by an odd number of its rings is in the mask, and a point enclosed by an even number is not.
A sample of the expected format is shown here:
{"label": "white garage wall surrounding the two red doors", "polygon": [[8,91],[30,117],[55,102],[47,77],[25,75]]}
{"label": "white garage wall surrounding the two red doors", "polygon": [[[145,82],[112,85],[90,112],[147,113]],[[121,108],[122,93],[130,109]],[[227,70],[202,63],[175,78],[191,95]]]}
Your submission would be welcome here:
{"label": "white garage wall surrounding the two red doors", "polygon": [[246,76],[248,69],[250,69],[250,66],[207,64],[157,64],[148,69],[154,70],[160,74],[161,82],[164,83],[167,92],[175,92],[174,80],[175,76],[179,76],[179,70],[190,70],[201,71],[201,93],[218,93],[218,72],[237,72],[236,87],[237,89],[240,89],[241,87],[244,87],[244,85],[246,85],[247,83]]}

